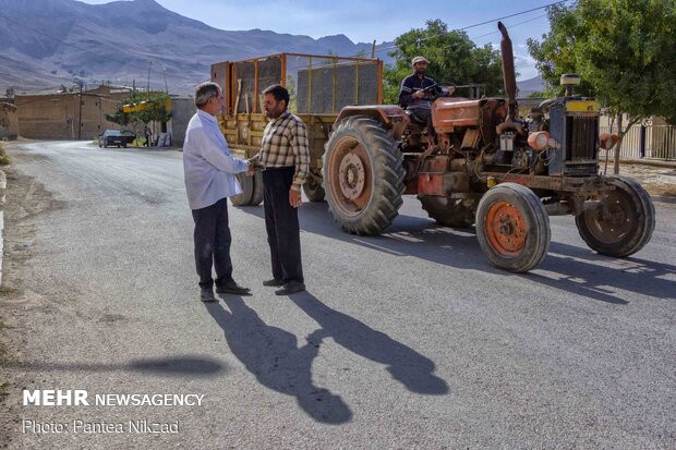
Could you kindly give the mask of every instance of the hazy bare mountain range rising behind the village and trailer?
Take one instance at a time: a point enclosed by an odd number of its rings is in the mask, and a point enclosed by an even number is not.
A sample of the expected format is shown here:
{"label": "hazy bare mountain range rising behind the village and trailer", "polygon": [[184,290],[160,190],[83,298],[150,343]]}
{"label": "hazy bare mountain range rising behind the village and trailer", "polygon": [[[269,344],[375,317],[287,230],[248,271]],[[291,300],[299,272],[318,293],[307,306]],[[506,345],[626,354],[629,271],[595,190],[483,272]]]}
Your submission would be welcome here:
{"label": "hazy bare mountain range rising behind the village and trailer", "polygon": [[[378,47],[389,47],[391,42]],[[377,47],[376,47],[377,49]],[[220,61],[298,52],[354,56],[371,44],[343,35],[313,39],[270,31],[222,31],[154,0],[87,4],[75,0],[0,0],[0,89],[88,85],[146,86],[189,94]],[[386,52],[376,53],[387,59]]]}

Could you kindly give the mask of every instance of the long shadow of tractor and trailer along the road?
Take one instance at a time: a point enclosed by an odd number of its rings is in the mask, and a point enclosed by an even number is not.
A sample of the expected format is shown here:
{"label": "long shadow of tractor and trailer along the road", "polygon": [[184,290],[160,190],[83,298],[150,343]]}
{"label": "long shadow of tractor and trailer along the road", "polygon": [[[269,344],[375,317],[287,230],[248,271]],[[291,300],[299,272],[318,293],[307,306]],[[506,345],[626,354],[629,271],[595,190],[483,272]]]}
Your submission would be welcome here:
{"label": "long shadow of tractor and trailer along the road", "polygon": [[[239,209],[263,220],[263,208]],[[615,289],[656,299],[676,297],[674,282],[664,278],[675,275],[676,267],[637,257],[614,258],[597,255],[586,247],[552,242],[550,254],[539,268],[555,273],[555,277],[539,273],[538,270],[511,273],[488,263],[479,246],[474,228],[459,231],[438,226],[430,219],[400,214],[382,235],[357,236],[336,227],[326,203],[304,204],[300,210],[300,222],[304,232],[388,255],[414,256],[449,267],[490,273],[492,277],[519,277],[601,302],[627,304],[626,293],[617,293]]]}

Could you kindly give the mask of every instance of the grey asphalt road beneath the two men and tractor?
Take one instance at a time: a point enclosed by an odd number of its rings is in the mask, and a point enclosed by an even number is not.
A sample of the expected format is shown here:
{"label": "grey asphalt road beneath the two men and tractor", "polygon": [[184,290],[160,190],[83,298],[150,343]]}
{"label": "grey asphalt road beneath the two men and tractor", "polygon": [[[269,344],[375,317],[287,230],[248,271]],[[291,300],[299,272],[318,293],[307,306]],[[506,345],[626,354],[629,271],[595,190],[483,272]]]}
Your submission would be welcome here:
{"label": "grey asphalt road beneath the two men and tractor", "polygon": [[[11,448],[676,447],[676,205],[656,204],[652,242],[627,259],[596,255],[571,217],[554,217],[542,266],[511,275],[415,198],[377,238],[304,204],[307,292],[290,297],[261,285],[262,207],[231,207],[234,277],[253,295],[204,305],[181,153],[61,142],[9,154],[15,291],[2,304],[22,326]],[[23,406],[24,387],[204,397]],[[141,419],[180,429],[126,429]]]}

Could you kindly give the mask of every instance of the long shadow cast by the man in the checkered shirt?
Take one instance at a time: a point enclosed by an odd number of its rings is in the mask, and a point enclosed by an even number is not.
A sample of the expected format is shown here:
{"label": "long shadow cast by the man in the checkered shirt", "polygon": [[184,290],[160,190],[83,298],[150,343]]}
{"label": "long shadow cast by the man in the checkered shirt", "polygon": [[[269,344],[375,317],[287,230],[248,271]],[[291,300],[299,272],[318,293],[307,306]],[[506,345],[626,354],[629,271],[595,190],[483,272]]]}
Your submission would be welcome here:
{"label": "long shadow cast by the man in the checkered shirt", "polygon": [[318,348],[324,338],[333,338],[347,350],[386,365],[391,376],[412,392],[431,396],[448,392],[446,381],[433,374],[434,363],[413,349],[329,308],[309,292],[292,294],[290,299],[322,326],[307,337],[315,346]]}

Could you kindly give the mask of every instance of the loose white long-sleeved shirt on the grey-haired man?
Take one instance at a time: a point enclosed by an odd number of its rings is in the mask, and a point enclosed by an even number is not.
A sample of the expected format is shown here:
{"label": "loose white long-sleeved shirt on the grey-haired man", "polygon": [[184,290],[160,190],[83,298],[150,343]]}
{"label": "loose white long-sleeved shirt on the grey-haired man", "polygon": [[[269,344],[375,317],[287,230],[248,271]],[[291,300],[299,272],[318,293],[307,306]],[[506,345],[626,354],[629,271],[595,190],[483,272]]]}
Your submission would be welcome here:
{"label": "loose white long-sleeved shirt on the grey-haired man", "polygon": [[191,209],[206,208],[221,198],[242,193],[234,173],[249,163],[230,154],[216,118],[197,110],[188,123],[183,144],[183,173]]}

